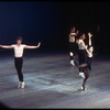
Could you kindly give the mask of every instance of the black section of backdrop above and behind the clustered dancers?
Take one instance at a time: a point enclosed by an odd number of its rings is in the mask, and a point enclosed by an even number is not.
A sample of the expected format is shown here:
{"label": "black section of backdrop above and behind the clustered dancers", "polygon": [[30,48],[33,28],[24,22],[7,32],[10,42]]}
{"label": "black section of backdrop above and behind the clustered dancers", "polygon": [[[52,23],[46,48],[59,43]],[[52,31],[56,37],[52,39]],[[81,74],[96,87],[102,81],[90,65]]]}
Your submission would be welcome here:
{"label": "black section of backdrop above and behind the clustered dancers", "polygon": [[[110,2],[73,1],[62,3],[63,35],[67,37],[69,29],[75,25],[80,32],[92,32],[95,52],[110,54]],[[67,41],[67,38],[65,38]],[[66,42],[65,42],[66,43]]]}

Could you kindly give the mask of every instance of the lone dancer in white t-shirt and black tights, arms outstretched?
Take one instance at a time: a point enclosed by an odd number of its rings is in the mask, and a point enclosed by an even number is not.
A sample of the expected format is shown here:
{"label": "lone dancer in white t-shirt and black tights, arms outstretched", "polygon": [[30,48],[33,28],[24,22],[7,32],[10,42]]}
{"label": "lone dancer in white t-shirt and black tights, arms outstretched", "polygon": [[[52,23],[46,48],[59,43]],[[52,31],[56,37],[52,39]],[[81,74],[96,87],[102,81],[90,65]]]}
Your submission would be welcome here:
{"label": "lone dancer in white t-shirt and black tights, arms outstretched", "polygon": [[16,38],[16,44],[13,45],[0,45],[3,48],[14,48],[14,65],[18,72],[19,76],[19,86],[18,88],[24,88],[24,80],[23,80],[23,74],[22,74],[22,65],[23,65],[23,51],[24,48],[37,48],[40,47],[41,43],[38,43],[37,46],[30,46],[22,44],[22,37],[19,36]]}

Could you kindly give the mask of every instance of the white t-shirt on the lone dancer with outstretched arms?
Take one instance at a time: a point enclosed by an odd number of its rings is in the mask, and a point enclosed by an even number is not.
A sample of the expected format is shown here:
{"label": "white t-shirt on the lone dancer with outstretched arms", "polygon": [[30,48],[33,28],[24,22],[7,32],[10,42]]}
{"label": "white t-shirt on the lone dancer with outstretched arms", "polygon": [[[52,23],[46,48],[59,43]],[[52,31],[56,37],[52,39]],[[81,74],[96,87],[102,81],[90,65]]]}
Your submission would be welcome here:
{"label": "white t-shirt on the lone dancer with outstretched arms", "polygon": [[22,44],[21,46],[18,46],[16,44],[11,45],[14,48],[14,56],[15,57],[22,57],[23,56],[23,50],[26,45]]}

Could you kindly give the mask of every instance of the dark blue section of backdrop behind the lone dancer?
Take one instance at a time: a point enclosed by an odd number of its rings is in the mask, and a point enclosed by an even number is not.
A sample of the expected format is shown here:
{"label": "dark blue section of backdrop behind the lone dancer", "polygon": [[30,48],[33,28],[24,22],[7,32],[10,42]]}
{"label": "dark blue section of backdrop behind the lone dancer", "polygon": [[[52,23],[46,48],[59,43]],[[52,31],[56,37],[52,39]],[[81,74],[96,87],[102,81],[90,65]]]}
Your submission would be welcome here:
{"label": "dark blue section of backdrop behind the lone dancer", "polygon": [[21,35],[23,43],[43,48],[61,40],[61,3],[47,1],[0,2],[0,43],[12,44]]}

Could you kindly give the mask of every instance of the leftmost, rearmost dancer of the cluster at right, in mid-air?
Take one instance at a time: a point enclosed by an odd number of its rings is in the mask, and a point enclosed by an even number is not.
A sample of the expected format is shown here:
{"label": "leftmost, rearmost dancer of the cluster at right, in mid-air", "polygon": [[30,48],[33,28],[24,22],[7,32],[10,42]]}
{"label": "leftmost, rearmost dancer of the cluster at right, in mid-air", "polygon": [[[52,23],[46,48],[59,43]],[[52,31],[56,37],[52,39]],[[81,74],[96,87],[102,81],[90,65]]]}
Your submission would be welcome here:
{"label": "leftmost, rearmost dancer of the cluster at right, in mid-air", "polygon": [[77,45],[76,45],[76,36],[79,31],[75,32],[75,28],[73,26],[69,33],[69,55],[70,55],[70,64],[75,66],[74,57],[76,54]]}

